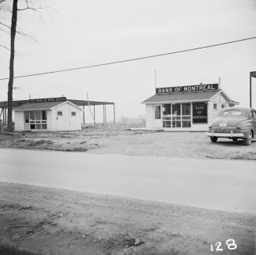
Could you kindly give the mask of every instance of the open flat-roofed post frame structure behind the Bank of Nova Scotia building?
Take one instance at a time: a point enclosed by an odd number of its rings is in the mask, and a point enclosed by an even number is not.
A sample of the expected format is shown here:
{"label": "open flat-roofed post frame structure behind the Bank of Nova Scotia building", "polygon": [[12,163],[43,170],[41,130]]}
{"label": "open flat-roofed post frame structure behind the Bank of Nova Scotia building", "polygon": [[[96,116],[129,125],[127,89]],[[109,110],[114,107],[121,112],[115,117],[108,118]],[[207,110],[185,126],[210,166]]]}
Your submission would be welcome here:
{"label": "open flat-roofed post frame structure behind the Bank of Nova Scotia building", "polygon": [[[66,99],[69,102],[74,103],[76,106],[79,106],[82,108],[83,112],[83,124],[85,124],[85,106],[89,107],[90,112],[92,113],[92,118],[94,124],[96,123],[96,106],[103,106],[103,123],[106,122],[106,105],[112,105],[113,106],[113,116],[114,116],[114,123],[116,122],[115,118],[115,103],[114,102],[101,102],[101,101],[88,101],[88,100],[78,100],[78,99]],[[14,100],[13,101],[13,109],[27,105],[31,102],[31,99],[28,100]],[[93,110],[91,110],[91,107]],[[7,101],[0,102],[0,120],[4,124],[7,123],[7,109],[8,109],[8,103]]]}

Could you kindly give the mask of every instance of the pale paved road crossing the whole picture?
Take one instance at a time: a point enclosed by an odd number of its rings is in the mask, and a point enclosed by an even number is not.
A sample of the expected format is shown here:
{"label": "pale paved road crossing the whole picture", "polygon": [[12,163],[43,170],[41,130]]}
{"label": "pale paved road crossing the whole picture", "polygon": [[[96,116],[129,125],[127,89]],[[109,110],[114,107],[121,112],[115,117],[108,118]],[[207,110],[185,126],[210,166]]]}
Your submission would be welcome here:
{"label": "pale paved road crossing the whole picture", "polygon": [[0,149],[0,181],[256,214],[253,161]]}

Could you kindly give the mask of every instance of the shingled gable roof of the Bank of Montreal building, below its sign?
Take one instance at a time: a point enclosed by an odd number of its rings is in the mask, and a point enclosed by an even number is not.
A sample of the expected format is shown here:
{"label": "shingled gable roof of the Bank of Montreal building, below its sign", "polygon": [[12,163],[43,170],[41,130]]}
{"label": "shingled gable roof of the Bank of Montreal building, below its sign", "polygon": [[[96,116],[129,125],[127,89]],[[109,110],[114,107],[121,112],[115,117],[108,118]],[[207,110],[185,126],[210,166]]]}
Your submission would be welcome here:
{"label": "shingled gable roof of the Bank of Montreal building, below its sign", "polygon": [[[191,101],[208,101],[219,92],[229,101],[234,102],[222,90],[207,91],[207,92],[183,92],[171,94],[155,94],[149,99],[144,100],[142,103],[157,103],[157,102],[191,102]],[[238,102],[234,102],[238,103]]]}

